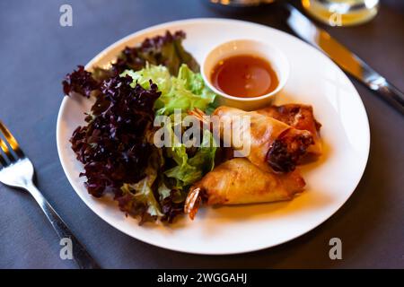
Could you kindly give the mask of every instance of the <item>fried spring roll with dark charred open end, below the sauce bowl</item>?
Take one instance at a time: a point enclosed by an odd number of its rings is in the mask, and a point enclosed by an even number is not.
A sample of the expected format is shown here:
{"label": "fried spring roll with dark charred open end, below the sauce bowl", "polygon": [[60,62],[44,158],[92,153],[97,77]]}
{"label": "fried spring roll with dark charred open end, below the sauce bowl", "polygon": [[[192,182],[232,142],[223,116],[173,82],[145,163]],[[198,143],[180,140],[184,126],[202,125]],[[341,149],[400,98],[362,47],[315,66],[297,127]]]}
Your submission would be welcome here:
{"label": "fried spring roll with dark charred open end, below the sauce bowl", "polygon": [[[243,117],[250,118],[250,133],[247,139],[250,152],[245,154],[252,163],[261,170],[289,172],[294,170],[299,159],[312,144],[312,134],[309,131],[298,130],[278,121],[274,117],[261,115],[256,111],[244,111],[230,107],[215,109],[212,116],[219,118],[220,136],[224,143],[234,147],[224,134],[224,126],[242,126],[232,129],[231,141],[234,138],[246,138]],[[238,135],[240,134],[240,135]]]}

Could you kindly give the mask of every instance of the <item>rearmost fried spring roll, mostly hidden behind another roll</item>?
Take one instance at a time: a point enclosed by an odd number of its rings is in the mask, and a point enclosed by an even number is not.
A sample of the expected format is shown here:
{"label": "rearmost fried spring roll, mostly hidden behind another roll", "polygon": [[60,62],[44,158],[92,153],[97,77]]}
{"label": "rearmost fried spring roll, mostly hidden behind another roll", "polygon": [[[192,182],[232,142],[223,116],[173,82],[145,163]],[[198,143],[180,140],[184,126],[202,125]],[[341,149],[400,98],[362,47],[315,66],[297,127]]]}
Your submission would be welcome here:
{"label": "rearmost fried spring roll, mostly hidden behind another roll", "polygon": [[280,120],[289,126],[293,126],[294,128],[311,132],[313,144],[309,146],[307,153],[312,159],[321,155],[321,124],[315,119],[312,106],[303,104],[286,104],[282,106],[269,106],[264,109],[259,109],[257,112],[269,117],[275,117],[277,120]]}

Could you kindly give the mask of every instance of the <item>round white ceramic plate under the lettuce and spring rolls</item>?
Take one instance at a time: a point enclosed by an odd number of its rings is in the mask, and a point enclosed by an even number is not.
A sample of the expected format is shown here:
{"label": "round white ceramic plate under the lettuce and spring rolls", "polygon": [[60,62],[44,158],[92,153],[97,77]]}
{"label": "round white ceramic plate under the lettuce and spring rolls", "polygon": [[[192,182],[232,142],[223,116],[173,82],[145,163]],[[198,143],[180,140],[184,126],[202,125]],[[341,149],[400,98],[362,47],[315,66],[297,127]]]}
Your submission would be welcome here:
{"label": "round white ceramic plate under the lettuce and spring rolls", "polygon": [[230,39],[259,39],[282,49],[290,63],[290,77],[277,102],[312,104],[322,124],[325,154],[321,161],[303,167],[307,189],[290,202],[201,208],[194,222],[183,216],[171,226],[139,226],[110,199],[94,198],[83,187],[83,178],[79,178],[83,167],[75,160],[69,138],[77,126],[83,125],[83,113],[92,103],[83,97],[65,97],[57,118],[57,150],[66,177],[83,202],[129,236],[162,248],[198,254],[273,247],[303,235],[336,213],[362,177],[370,143],[364,105],[346,74],[321,52],[282,31],[222,19],[169,22],[138,31],[103,50],[86,68],[108,65],[125,46],[165,30],[184,30],[184,46],[199,62],[211,48]]}

